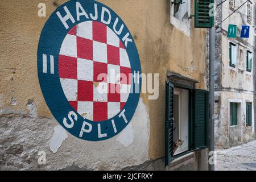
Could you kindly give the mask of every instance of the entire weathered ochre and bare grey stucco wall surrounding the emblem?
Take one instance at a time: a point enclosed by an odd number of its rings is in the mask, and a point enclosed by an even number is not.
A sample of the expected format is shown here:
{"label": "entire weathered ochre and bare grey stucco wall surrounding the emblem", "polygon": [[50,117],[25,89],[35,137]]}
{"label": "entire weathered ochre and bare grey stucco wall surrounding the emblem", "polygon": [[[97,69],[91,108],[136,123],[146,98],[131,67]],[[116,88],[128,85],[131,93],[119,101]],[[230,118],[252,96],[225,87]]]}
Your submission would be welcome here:
{"label": "entire weathered ochre and bare grey stucco wall surrounding the emblem", "polygon": [[[172,26],[169,0],[100,1],[133,34],[142,72],[159,73],[159,98],[148,100],[148,94],[142,94],[134,118],[121,134],[104,142],[86,142],[61,131],[40,90],[39,36],[49,15],[66,1],[44,1],[46,17],[38,16],[40,2],[3,0],[0,5],[0,168],[122,169],[162,158],[167,70],[198,80],[196,88],[207,89],[206,31],[193,28],[192,21],[189,37]],[[38,165],[39,151],[46,151],[46,166]],[[207,159],[207,152],[199,154]],[[193,169],[206,165],[206,160],[200,161]]]}

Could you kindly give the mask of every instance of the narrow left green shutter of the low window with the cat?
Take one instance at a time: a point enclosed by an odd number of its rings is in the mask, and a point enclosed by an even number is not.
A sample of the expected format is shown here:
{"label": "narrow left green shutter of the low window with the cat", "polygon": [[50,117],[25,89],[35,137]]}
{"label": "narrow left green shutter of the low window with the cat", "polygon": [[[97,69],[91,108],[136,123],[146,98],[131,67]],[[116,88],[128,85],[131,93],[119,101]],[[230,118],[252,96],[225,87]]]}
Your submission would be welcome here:
{"label": "narrow left green shutter of the low window with the cat", "polygon": [[174,85],[166,82],[166,166],[174,159]]}

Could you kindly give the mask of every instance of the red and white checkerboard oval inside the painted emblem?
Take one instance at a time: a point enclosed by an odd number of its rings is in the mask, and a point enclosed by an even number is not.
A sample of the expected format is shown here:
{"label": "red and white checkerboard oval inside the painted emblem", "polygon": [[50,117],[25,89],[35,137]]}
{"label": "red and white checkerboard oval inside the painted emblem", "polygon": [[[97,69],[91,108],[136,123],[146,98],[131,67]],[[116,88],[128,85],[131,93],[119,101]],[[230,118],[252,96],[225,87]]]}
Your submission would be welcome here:
{"label": "red and white checkerboard oval inside the painted emblem", "polygon": [[[105,73],[102,79],[98,75]],[[69,104],[84,118],[105,121],[122,110],[131,89],[130,60],[118,36],[100,22],[83,22],[65,37],[59,76]]]}

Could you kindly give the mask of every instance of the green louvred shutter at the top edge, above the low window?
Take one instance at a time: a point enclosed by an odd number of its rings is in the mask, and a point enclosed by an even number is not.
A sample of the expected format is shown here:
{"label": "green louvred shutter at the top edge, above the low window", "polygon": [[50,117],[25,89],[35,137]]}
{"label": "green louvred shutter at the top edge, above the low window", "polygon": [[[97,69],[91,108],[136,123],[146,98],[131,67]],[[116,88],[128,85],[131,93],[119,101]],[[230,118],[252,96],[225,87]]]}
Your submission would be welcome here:
{"label": "green louvred shutter at the top edge, above the low window", "polygon": [[212,28],[214,17],[209,15],[214,0],[195,0],[195,28]]}

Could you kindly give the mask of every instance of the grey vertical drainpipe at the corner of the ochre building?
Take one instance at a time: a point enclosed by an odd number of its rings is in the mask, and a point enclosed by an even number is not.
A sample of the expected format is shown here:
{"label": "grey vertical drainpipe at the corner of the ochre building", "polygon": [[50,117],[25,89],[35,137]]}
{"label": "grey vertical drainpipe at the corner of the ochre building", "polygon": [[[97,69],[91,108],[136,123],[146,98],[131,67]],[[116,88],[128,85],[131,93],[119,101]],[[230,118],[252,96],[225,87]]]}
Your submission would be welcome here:
{"label": "grey vertical drainpipe at the corner of the ochre building", "polygon": [[[209,118],[209,151],[214,151],[214,42],[215,42],[215,27],[210,28],[210,118]],[[214,159],[216,160],[216,159]],[[214,164],[209,165],[209,170],[214,171]]]}

